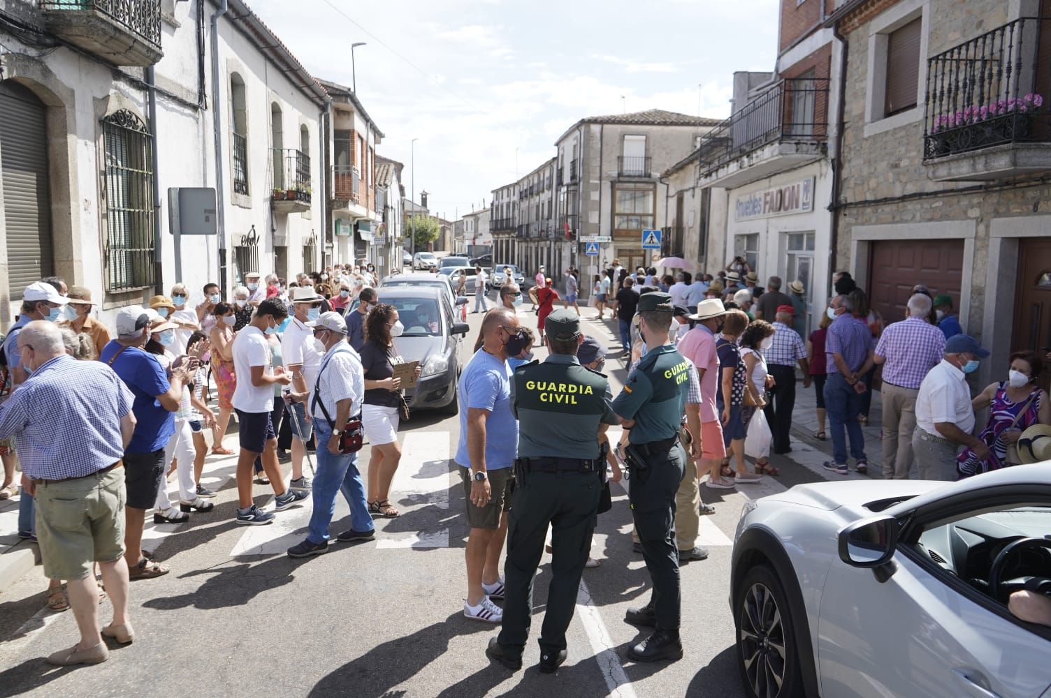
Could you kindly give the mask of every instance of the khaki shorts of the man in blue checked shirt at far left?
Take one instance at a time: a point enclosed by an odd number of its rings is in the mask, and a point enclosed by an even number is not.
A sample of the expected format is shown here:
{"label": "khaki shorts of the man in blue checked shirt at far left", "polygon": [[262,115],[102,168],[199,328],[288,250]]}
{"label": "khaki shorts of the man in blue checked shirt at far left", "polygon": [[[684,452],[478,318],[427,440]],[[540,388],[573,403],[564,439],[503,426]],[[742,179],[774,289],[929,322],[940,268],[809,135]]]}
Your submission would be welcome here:
{"label": "khaki shorts of the man in blue checked shirt at far left", "polygon": [[37,540],[48,579],[83,579],[124,554],[124,468],[37,485]]}

